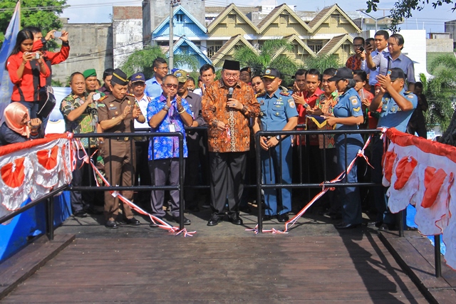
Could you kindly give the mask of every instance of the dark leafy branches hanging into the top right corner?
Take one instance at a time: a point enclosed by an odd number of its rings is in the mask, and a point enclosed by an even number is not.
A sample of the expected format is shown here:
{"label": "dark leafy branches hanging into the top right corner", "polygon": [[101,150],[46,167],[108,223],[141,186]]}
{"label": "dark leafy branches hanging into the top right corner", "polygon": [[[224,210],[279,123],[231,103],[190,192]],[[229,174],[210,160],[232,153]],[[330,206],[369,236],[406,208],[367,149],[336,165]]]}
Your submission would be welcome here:
{"label": "dark leafy branches hanging into the top right corner", "polygon": [[[366,12],[370,13],[371,11],[377,11],[377,5],[380,3],[380,0],[368,0],[368,9]],[[393,9],[390,11],[390,17],[393,19],[391,22],[390,29],[391,31],[398,31],[398,24],[404,18],[410,18],[413,11],[421,11],[425,8],[426,5],[432,5],[434,9],[437,6],[442,6],[444,4],[453,4],[452,10],[455,11],[456,3],[452,0],[398,0],[395,2]]]}

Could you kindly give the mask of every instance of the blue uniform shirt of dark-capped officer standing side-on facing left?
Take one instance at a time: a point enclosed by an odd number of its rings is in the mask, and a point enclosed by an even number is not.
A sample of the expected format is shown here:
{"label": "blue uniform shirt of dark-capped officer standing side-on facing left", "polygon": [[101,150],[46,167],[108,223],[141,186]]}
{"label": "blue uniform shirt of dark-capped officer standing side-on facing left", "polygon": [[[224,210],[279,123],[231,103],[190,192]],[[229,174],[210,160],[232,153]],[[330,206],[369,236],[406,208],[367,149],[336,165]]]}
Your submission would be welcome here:
{"label": "blue uniform shirt of dark-capped officer standing side-on facing left", "polygon": [[[361,110],[361,98],[359,98],[358,92],[354,88],[351,88],[339,96],[338,103],[333,108],[333,114],[335,117],[351,117],[351,116],[363,116],[363,110]],[[336,124],[336,130],[358,130],[358,125],[342,125]],[[338,139],[343,139],[343,135],[336,135],[336,142]],[[359,134],[347,135],[347,137],[361,138]]]}

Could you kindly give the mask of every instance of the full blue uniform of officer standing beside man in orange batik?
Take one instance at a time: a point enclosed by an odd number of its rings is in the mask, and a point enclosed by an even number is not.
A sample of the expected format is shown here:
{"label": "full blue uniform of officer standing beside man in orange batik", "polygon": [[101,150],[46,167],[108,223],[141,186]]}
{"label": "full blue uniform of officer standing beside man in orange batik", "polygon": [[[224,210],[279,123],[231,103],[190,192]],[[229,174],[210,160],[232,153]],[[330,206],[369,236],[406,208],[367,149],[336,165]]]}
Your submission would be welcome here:
{"label": "full blue uniform of officer standing beside man in orange batik", "polygon": [[[268,74],[266,70],[265,75]],[[289,118],[297,117],[298,112],[291,94],[276,90],[269,97],[266,93],[257,98],[260,105],[260,129],[262,131],[282,130]],[[280,135],[277,135],[279,139]],[[259,149],[259,147],[257,147]],[[279,165],[282,165],[281,173]],[[292,150],[291,137],[281,139],[276,147],[265,151],[261,149],[261,167],[265,184],[291,184]],[[279,199],[277,199],[279,196]],[[291,211],[291,189],[264,189],[266,216],[287,214]]]}

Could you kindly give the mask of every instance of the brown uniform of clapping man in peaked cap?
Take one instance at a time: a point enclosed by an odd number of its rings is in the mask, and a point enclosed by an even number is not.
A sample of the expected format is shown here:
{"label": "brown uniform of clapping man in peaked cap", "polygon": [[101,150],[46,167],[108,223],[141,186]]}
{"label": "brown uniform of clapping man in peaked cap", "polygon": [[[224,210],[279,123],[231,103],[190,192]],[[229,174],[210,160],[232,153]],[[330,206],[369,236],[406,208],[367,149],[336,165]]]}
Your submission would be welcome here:
{"label": "brown uniform of clapping man in peaked cap", "polygon": [[[135,105],[135,97],[126,95],[123,100],[116,100],[113,95],[98,103],[98,121],[111,120],[122,115],[125,108]],[[130,114],[120,124],[103,130],[105,133],[119,133],[119,137],[106,138],[102,156],[105,160],[105,172],[111,186],[133,186],[135,176],[135,145],[132,138],[124,137],[123,132],[134,132],[133,115]],[[123,191],[126,199],[133,198],[133,191]],[[118,215],[119,201],[110,192],[105,192],[105,217],[106,220],[115,219]],[[123,214],[126,218],[133,218],[130,206],[123,204]]]}

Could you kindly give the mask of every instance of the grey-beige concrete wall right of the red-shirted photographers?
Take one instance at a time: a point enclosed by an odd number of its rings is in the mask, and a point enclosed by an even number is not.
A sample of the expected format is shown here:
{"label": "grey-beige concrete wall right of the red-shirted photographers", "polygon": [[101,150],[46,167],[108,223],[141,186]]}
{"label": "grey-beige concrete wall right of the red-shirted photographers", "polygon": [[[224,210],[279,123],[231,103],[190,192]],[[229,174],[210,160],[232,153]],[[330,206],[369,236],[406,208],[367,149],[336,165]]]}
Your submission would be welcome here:
{"label": "grey-beige concrete wall right of the red-shirted photographers", "polygon": [[98,79],[106,68],[113,68],[113,27],[111,23],[67,23],[70,56],[63,63],[53,65],[53,80],[66,85],[73,72],[95,68]]}

